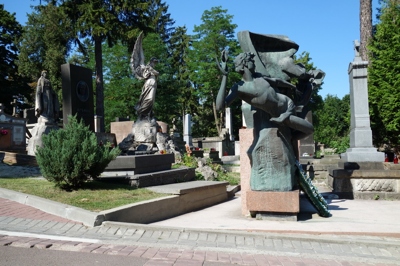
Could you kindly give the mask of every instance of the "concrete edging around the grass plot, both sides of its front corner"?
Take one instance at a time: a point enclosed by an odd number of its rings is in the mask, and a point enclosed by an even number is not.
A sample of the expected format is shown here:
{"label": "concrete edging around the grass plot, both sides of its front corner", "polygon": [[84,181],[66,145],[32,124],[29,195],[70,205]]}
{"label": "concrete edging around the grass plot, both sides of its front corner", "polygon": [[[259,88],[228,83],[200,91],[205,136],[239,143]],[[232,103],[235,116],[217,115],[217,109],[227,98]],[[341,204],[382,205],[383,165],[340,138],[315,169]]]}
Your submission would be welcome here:
{"label": "concrete edging around the grass plot, both sides of its front corner", "polygon": [[[218,186],[218,188],[222,189],[221,186]],[[229,190],[222,194],[207,194],[205,199],[201,199],[202,196],[199,192],[169,195],[120,206],[99,213],[4,188],[0,188],[0,197],[17,201],[46,213],[81,222],[85,226],[95,227],[101,225],[106,220],[125,221],[134,224],[163,220],[227,200],[233,197],[239,188],[240,186],[234,186],[229,187]],[[196,200],[193,200],[193,198],[196,198]]]}

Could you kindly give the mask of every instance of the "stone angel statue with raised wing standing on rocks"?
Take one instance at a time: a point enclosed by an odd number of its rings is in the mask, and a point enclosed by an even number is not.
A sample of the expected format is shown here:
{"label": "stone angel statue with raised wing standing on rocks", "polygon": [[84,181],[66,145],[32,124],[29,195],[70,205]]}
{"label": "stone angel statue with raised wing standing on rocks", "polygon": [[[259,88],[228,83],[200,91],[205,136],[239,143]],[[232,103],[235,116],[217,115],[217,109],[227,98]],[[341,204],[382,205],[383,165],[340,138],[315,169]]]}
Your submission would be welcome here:
{"label": "stone angel statue with raised wing standing on rocks", "polygon": [[159,73],[154,70],[154,67],[158,63],[158,60],[157,58],[152,57],[147,65],[144,64],[145,57],[143,53],[142,40],[143,32],[141,32],[139,37],[137,37],[131,57],[132,73],[137,79],[145,80],[139,101],[136,103],[134,108],[136,109],[136,114],[139,116],[139,120],[147,119],[150,122],[153,117],[152,109],[159,75]]}

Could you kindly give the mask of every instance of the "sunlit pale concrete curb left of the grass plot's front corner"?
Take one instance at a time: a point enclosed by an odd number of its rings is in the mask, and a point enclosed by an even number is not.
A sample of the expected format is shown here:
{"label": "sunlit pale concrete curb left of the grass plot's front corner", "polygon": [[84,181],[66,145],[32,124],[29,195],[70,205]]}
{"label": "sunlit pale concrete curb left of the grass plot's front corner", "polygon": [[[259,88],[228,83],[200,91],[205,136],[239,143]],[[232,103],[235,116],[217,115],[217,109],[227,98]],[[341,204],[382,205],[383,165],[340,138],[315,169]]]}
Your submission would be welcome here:
{"label": "sunlit pale concrete curb left of the grass plot's front corner", "polygon": [[101,225],[104,221],[103,214],[5,188],[0,188],[0,196],[90,227]]}

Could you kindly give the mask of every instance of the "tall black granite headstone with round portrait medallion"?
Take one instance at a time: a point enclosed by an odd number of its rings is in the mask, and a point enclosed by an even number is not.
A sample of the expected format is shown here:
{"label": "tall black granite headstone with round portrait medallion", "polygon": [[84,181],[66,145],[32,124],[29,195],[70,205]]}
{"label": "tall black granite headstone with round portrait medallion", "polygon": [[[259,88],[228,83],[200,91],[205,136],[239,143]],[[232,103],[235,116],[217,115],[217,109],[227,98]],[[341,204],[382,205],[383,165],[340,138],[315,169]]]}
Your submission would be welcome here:
{"label": "tall black granite headstone with round portrait medallion", "polygon": [[66,124],[68,115],[77,114],[89,129],[95,131],[92,70],[72,64],[61,65],[62,110]]}

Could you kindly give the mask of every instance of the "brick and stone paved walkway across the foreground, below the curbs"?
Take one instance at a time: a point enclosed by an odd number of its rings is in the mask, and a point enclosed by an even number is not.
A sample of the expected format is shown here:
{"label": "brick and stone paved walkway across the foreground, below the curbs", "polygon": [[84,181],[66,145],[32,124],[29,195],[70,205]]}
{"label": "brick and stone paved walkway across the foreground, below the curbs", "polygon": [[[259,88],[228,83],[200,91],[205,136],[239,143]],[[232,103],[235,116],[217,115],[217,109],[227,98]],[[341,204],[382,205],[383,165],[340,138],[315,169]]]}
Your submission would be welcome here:
{"label": "brick and stone paved walkway across the foreground, below the curbs", "polygon": [[163,266],[400,265],[400,238],[382,235],[321,236],[115,222],[87,228],[61,219],[0,198],[0,246],[142,257],[149,259],[145,265]]}

